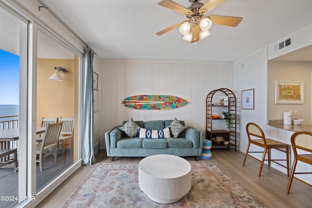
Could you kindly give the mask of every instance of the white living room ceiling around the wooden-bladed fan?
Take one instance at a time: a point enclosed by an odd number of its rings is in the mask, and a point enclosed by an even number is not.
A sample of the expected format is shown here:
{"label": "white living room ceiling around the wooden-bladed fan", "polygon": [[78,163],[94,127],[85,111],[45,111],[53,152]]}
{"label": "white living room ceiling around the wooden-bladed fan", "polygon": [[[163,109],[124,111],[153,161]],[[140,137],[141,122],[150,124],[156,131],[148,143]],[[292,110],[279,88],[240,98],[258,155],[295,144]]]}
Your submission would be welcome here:
{"label": "white living room ceiling around the wooden-bladed fan", "polygon": [[235,61],[312,23],[312,0],[226,0],[209,14],[243,20],[237,27],[213,24],[211,36],[195,45],[178,28],[156,35],[186,19],[160,0],[41,1],[101,58]]}

